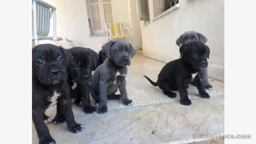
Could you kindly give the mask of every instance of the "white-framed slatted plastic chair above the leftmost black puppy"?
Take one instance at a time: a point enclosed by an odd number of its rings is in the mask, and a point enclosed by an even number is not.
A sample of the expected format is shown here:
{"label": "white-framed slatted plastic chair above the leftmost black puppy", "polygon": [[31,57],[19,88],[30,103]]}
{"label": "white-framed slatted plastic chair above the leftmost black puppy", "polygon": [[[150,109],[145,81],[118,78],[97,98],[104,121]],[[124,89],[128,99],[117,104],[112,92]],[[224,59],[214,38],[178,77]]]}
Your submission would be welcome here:
{"label": "white-framed slatted plastic chair above the leftmost black puppy", "polygon": [[[57,45],[56,35],[56,7],[42,1],[33,0],[33,33],[32,40],[35,41],[35,45],[38,45],[38,40],[54,40],[54,44]],[[52,9],[50,11],[50,9]],[[50,18],[53,14],[53,37],[48,37],[50,31]]]}

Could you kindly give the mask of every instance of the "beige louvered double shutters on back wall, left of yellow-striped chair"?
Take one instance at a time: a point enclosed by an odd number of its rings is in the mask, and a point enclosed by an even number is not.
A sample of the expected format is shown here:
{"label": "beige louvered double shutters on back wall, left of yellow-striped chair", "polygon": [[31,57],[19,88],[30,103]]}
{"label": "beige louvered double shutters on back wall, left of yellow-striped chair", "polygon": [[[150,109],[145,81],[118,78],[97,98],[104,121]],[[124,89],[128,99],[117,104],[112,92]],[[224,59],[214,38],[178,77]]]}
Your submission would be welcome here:
{"label": "beige louvered double shutters on back wall, left of yellow-striped chair", "polygon": [[86,0],[91,35],[103,34],[105,24],[113,22],[111,0]]}

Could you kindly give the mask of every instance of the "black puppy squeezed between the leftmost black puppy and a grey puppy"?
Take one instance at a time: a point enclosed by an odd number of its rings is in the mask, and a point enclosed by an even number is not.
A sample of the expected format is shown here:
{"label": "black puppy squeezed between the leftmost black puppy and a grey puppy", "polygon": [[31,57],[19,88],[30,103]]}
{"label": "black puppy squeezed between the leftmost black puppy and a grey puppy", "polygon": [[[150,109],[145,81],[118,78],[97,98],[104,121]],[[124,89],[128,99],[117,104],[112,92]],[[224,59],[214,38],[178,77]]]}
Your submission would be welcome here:
{"label": "black puppy squeezed between the leftmost black puppy and a grey puppy", "polygon": [[98,54],[84,47],[73,47],[68,51],[73,55],[68,68],[70,97],[75,100],[76,105],[83,106],[86,114],[93,113],[97,108],[90,103],[89,83],[92,79],[92,71],[97,66]]}

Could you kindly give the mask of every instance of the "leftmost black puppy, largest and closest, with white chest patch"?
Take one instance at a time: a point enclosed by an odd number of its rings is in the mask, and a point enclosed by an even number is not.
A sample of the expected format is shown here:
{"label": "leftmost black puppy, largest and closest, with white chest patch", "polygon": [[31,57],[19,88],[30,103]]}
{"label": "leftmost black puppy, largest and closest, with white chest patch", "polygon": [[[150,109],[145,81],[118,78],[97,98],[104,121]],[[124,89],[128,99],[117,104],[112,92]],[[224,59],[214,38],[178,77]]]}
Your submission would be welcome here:
{"label": "leftmost black puppy, largest and closest, with white chest patch", "polygon": [[48,119],[45,110],[55,104],[57,111],[63,112],[71,132],[77,133],[84,128],[74,120],[70,88],[66,81],[71,59],[71,53],[56,45],[41,44],[32,48],[32,119],[40,144],[56,143],[44,123]]}

